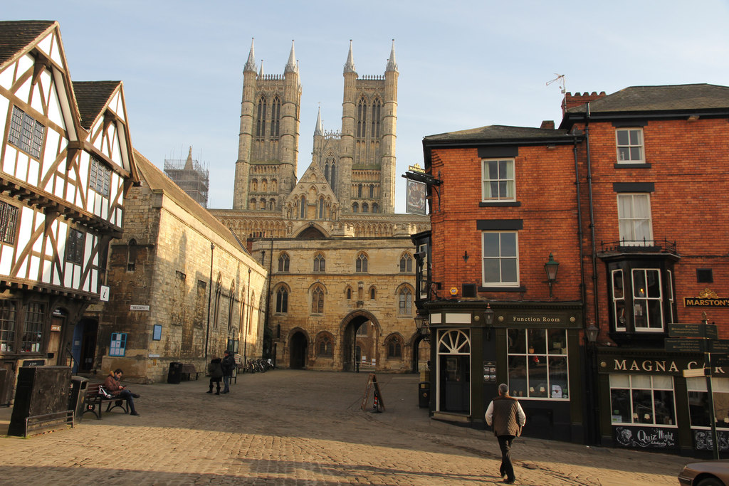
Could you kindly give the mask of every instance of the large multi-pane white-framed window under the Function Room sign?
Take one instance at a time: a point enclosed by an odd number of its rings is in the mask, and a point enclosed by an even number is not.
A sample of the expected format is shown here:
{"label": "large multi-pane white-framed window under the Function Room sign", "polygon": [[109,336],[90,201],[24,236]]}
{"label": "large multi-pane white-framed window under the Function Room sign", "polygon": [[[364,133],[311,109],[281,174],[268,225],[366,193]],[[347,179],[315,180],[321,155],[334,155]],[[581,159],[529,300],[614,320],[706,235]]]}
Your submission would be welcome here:
{"label": "large multi-pane white-framed window under the Function Room sign", "polygon": [[566,344],[564,329],[508,329],[511,395],[568,399]]}

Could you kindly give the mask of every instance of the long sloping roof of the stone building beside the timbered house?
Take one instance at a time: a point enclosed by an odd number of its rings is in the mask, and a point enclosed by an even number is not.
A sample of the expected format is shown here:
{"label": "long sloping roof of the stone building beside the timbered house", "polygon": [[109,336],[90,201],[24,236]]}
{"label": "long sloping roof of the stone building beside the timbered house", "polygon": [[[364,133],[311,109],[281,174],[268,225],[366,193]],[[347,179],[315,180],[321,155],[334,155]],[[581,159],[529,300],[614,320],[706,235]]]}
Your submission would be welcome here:
{"label": "long sloping roof of the stone building beside the timbered house", "polygon": [[166,176],[165,173],[163,173],[163,171],[161,171],[160,168],[152,162],[149,162],[147,157],[140,154],[137,149],[134,149],[134,161],[136,162],[137,171],[139,171],[139,179],[144,179],[144,182],[147,183],[149,189],[161,189],[166,196],[170,197],[184,208],[185,211],[190,213],[190,216],[198,219],[198,221],[205,224],[221,238],[227,240],[227,242],[231,245],[241,248],[243,253],[249,254],[249,251],[245,246],[243,246],[243,243],[241,243],[238,238],[235,238],[233,232],[231,232],[225,224],[219,222],[219,220],[209,213],[206,208],[203,208],[203,206],[199,205],[194,199],[192,199],[192,197],[188,196],[186,192],[180,189],[179,186],[172,181],[172,179]]}

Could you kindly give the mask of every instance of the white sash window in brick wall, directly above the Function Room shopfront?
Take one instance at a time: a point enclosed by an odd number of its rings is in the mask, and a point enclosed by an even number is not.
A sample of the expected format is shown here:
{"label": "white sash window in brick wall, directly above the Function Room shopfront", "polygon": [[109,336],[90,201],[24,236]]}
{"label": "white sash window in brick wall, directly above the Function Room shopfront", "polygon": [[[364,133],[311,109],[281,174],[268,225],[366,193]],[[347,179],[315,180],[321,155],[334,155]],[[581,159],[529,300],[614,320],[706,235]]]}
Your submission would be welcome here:
{"label": "white sash window in brick wall, directly above the Function Room shopfront", "polygon": [[483,232],[483,286],[519,285],[518,234]]}

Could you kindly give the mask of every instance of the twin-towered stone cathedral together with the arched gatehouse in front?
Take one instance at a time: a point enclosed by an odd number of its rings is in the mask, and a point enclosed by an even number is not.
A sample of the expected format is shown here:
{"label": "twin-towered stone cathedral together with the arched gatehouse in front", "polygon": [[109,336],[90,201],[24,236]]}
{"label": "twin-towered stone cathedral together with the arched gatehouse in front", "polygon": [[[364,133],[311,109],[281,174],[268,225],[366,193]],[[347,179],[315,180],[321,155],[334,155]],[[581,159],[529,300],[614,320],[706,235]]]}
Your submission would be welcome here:
{"label": "twin-towered stone cathedral together with the arched gatehouse in front", "polygon": [[423,368],[415,247],[426,216],[394,213],[394,42],[384,74],[359,76],[350,42],[340,130],[321,113],[297,180],[302,86],[292,44],[284,74],[243,68],[232,210],[211,210],[269,270],[270,352],[278,366],[408,372]]}

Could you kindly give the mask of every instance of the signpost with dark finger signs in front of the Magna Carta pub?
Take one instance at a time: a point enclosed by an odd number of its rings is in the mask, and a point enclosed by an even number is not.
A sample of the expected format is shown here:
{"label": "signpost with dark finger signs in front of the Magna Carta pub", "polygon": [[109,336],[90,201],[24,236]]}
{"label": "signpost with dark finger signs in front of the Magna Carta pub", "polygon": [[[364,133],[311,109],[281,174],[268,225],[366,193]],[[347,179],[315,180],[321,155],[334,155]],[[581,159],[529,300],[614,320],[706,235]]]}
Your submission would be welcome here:
{"label": "signpost with dark finger signs in front of the Magna Carta pub", "polygon": [[[717,440],[717,422],[714,414],[714,390],[712,389],[712,367],[729,366],[729,340],[719,339],[716,324],[709,324],[706,313],[703,313],[701,324],[668,324],[668,336],[664,342],[666,351],[684,353],[703,353],[703,368],[685,369],[685,378],[706,376],[706,392],[709,393],[709,417],[712,419],[712,437],[714,439],[714,459],[719,458],[719,441]],[[712,358],[712,353],[714,358]],[[716,356],[716,354],[722,356]],[[721,365],[718,363],[722,363]],[[726,363],[726,364],[724,364]]]}

